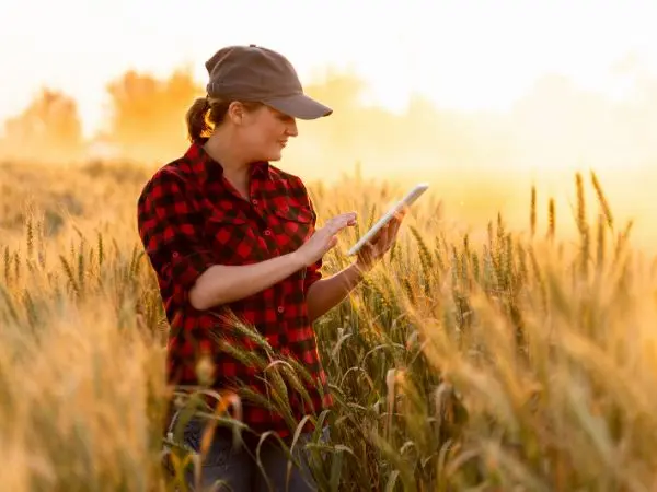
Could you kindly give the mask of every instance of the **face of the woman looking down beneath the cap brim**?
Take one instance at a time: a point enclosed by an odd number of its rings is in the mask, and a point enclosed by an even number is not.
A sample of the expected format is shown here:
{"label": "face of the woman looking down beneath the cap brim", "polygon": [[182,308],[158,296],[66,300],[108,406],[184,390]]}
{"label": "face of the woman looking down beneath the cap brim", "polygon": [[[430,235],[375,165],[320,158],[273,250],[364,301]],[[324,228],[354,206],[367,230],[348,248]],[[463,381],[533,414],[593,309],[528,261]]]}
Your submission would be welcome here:
{"label": "face of the woman looking down beneath the cap brim", "polygon": [[299,134],[295,118],[265,105],[243,112],[238,122],[237,138],[253,161],[279,161],[288,139]]}

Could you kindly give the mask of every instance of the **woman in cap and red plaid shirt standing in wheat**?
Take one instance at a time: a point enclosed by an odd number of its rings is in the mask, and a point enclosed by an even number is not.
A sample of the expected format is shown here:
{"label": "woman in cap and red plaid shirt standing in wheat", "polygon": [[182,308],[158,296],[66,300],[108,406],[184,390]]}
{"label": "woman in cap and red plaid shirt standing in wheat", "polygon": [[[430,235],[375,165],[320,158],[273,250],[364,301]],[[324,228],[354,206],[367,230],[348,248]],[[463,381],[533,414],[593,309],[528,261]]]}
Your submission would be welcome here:
{"label": "woman in cap and red plaid shirt standing in wheat", "polygon": [[[222,48],[206,68],[207,97],[187,113],[191,147],[151,177],[138,200],[139,234],[171,325],[168,379],[197,385],[197,363],[209,355],[214,388],[238,387],[240,380],[267,396],[263,374],[219,351],[211,336],[230,332],[218,316],[230,311],[316,382],[307,388],[311,406],[288,391],[300,421],[332,403],[312,321],[344,300],[390,249],[402,216],[350,267],[323,278],[322,257],[335,246],[336,234],[356,223],[356,214],[342,213],[315,230],[301,179],[269,163],[280,160],[288,139],[297,136],[296,118],[316,119],[332,109],[303,94],[290,62],[266,48]],[[231,337],[247,347],[249,340]],[[243,403],[242,421],[256,437],[274,432],[290,442],[293,433],[283,415],[256,403]],[[196,450],[203,425],[196,419],[185,430],[186,444]],[[218,430],[205,458],[204,485],[223,480],[235,491],[268,490],[252,457],[254,443],[257,438],[232,448],[230,433]],[[304,464],[304,456],[298,457]],[[284,452],[265,446],[261,460],[274,489],[285,490]],[[306,465],[292,470],[289,490],[314,490]]]}

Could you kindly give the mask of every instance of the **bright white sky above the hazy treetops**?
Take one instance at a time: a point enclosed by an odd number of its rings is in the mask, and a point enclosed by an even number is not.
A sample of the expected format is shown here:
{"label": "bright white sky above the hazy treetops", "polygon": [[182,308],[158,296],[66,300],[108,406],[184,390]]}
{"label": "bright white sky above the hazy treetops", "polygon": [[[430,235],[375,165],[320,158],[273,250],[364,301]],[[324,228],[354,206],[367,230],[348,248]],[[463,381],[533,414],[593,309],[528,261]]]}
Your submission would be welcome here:
{"label": "bright white sky above the hazy treetops", "polygon": [[656,19],[655,0],[3,0],[0,120],[48,86],[76,97],[91,134],[126,70],[188,66],[204,81],[212,52],[250,43],[284,52],[303,82],[351,69],[390,109],[420,93],[504,112],[546,74],[622,98],[626,70],[657,73]]}

